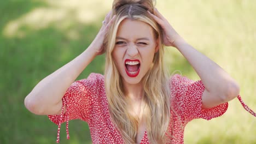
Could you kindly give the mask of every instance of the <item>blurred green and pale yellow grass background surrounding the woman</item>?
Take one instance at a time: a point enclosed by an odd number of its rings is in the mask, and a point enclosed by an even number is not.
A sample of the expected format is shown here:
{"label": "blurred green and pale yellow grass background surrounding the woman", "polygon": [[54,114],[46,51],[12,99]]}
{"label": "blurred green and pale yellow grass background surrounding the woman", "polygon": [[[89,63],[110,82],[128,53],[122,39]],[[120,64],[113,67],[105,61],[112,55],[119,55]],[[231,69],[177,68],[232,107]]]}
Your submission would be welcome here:
{"label": "blurred green and pale yellow grass background surrounding the woman", "polygon": [[[256,111],[256,1],[157,1],[156,8],[182,37],[213,59],[240,83],[241,97]],[[44,77],[88,47],[99,31],[112,1],[0,1],[0,143],[55,143],[57,125],[47,116],[25,109],[24,98]],[[180,70],[199,80],[173,47],[166,47],[170,73]],[[77,78],[104,71],[98,56]],[[53,95],[54,97],[54,95]],[[88,125],[65,124],[61,143],[91,143]],[[196,119],[185,128],[185,143],[256,143],[256,119],[237,99],[211,121]]]}

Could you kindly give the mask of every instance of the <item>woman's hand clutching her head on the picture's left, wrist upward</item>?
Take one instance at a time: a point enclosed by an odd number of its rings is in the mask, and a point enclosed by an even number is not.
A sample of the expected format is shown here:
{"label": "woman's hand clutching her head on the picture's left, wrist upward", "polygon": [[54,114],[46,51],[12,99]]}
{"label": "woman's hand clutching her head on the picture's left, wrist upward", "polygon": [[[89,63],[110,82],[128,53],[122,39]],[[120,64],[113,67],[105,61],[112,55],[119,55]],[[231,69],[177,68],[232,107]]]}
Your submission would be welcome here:
{"label": "woman's hand clutching her head on the picture's left, wrist upward", "polygon": [[96,38],[94,41],[91,43],[91,48],[96,50],[97,55],[102,55],[104,51],[104,38],[109,31],[110,26],[113,24],[115,20],[115,15],[111,18],[112,16],[112,10],[109,11],[109,13],[106,15],[104,21],[102,22],[102,27],[100,31],[98,32]]}

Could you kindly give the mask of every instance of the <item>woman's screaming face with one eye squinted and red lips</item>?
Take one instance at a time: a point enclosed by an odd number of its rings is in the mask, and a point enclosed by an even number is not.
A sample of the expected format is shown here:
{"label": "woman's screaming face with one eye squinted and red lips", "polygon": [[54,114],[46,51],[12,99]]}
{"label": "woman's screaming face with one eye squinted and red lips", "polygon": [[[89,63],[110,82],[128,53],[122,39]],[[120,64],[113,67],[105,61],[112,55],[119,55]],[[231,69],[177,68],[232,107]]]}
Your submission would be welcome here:
{"label": "woman's screaming face with one eye squinted and red lips", "polygon": [[124,19],[118,28],[112,53],[123,82],[137,84],[153,63],[158,42],[148,23]]}

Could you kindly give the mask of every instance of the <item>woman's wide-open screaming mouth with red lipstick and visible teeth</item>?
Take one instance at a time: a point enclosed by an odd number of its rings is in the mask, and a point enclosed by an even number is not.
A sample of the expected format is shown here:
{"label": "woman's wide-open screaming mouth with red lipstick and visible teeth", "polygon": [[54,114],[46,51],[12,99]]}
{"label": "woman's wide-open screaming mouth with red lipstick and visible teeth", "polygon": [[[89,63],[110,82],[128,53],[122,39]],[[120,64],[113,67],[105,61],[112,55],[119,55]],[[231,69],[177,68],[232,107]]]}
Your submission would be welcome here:
{"label": "woman's wide-open screaming mouth with red lipstick and visible teeth", "polygon": [[125,71],[126,71],[126,74],[130,77],[136,77],[139,74],[140,66],[141,66],[141,63],[139,62],[138,59],[125,60],[125,68],[126,68]]}

